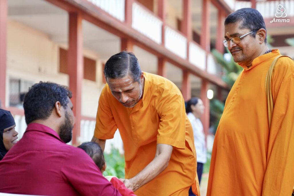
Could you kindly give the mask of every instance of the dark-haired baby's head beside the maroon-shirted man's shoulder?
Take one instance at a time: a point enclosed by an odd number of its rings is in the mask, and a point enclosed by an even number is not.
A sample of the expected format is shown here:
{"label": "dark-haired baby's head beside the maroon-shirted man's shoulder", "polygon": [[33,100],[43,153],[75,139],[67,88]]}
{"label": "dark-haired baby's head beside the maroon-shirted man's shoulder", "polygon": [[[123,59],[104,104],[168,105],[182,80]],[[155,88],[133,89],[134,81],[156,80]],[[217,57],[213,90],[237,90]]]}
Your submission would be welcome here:
{"label": "dark-haired baby's head beside the maroon-shirted man's shoulder", "polygon": [[84,142],[79,145],[78,148],[83,149],[93,159],[101,173],[105,171],[106,163],[104,160],[103,151],[99,144],[96,142]]}

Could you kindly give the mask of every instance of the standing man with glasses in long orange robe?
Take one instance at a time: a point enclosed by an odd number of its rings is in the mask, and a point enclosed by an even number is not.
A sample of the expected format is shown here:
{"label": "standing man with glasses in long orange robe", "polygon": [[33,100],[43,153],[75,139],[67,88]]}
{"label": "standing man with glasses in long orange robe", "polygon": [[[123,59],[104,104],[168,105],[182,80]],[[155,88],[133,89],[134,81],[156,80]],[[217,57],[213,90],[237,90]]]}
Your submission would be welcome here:
{"label": "standing man with glasses in long orange robe", "polygon": [[207,195],[290,196],[294,185],[294,63],[278,59],[268,124],[265,77],[279,50],[269,50],[261,14],[243,8],[225,20],[224,45],[244,69],[225,102],[213,144]]}

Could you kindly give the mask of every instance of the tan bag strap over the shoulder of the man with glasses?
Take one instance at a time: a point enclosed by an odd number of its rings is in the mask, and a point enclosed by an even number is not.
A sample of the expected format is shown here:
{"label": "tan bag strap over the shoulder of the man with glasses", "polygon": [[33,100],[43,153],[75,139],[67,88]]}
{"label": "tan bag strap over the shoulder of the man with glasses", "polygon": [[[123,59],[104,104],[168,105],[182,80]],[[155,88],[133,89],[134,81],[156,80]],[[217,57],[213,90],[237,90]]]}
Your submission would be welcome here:
{"label": "tan bag strap over the shoulder of the man with glasses", "polygon": [[[268,100],[268,127],[269,128],[270,128],[270,125],[271,125],[271,122],[272,122],[272,116],[273,116],[273,110],[274,110],[273,96],[272,96],[272,91],[271,91],[271,78],[272,78],[272,75],[273,75],[273,70],[274,70],[274,67],[275,67],[275,63],[282,56],[289,57],[289,56],[286,56],[286,55],[277,56],[273,60],[272,64],[270,65],[270,68],[268,69],[268,73],[266,74],[266,77],[265,77],[265,93],[266,93],[266,97],[267,97],[267,100]],[[289,57],[289,58],[291,58],[291,57]],[[291,58],[291,60],[292,60],[292,58]]]}

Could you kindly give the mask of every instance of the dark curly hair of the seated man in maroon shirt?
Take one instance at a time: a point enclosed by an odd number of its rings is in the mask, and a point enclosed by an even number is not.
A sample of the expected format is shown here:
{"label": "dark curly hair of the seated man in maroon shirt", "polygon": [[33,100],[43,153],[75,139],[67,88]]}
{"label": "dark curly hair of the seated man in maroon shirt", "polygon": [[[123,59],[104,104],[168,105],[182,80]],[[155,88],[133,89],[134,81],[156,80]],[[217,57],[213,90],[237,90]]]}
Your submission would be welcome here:
{"label": "dark curly hair of the seated man in maroon shirt", "polygon": [[39,82],[29,88],[24,97],[24,116],[28,125],[34,120],[46,120],[57,101],[66,108],[72,94],[67,86],[53,82]]}

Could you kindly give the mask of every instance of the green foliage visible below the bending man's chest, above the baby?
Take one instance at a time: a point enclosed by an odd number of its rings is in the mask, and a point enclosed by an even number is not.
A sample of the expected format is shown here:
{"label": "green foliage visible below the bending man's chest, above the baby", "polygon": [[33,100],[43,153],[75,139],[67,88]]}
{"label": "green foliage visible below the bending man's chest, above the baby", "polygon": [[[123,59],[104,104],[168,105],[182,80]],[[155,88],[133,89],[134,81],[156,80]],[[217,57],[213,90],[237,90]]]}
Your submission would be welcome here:
{"label": "green foliage visible below the bending man's chest, above the baby", "polygon": [[111,153],[104,153],[104,158],[107,165],[106,170],[103,172],[104,176],[125,178],[125,158],[117,148],[112,145]]}

